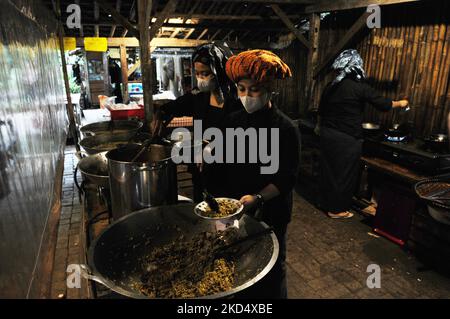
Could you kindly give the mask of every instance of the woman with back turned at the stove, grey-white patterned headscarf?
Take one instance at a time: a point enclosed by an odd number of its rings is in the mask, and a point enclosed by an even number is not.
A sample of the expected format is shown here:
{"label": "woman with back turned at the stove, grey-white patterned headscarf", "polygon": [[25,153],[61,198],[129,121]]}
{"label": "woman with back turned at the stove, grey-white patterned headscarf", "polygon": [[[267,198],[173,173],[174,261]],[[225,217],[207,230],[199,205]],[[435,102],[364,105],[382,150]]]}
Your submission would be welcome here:
{"label": "woman with back turned at the stove, grey-white patterned headscarf", "polygon": [[383,97],[365,83],[363,60],[356,50],[343,51],[332,69],[337,76],[322,94],[317,127],[321,206],[331,218],[350,218],[360,167],[365,103],[389,111],[407,107],[408,101]]}

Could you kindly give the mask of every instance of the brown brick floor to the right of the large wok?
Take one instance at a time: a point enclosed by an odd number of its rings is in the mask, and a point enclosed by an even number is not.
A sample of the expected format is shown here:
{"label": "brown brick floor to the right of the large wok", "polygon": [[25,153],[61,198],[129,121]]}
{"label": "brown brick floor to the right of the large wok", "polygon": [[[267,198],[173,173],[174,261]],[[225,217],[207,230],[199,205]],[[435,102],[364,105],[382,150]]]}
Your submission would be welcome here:
{"label": "brown brick floor to the right of the large wok", "polygon": [[[450,278],[420,271],[419,261],[383,237],[365,217],[332,220],[294,196],[288,230],[289,298],[450,298]],[[381,269],[381,288],[369,289],[369,264]]]}

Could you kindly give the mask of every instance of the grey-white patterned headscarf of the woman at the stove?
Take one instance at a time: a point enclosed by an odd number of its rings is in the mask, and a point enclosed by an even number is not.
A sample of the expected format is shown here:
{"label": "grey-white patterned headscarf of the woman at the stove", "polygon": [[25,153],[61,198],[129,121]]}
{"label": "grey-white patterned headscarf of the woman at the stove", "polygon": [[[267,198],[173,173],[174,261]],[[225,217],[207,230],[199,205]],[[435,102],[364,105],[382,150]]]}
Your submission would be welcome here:
{"label": "grey-white patterned headscarf of the woman at the stove", "polygon": [[339,72],[333,81],[333,85],[341,82],[347,75],[352,73],[356,75],[357,80],[364,79],[366,73],[364,72],[363,65],[364,62],[358,51],[354,49],[342,51],[331,66],[333,70]]}

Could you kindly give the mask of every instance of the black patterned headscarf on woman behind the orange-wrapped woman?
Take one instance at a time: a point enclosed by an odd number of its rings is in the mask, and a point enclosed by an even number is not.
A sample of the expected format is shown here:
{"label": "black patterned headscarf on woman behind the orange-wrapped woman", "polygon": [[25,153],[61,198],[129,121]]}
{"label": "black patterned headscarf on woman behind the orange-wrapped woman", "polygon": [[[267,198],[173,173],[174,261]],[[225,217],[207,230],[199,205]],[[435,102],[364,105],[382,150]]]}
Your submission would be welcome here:
{"label": "black patterned headscarf on woman behind the orange-wrapped woman", "polygon": [[233,53],[227,46],[214,42],[197,47],[192,57],[194,63],[200,62],[209,66],[216,78],[217,87],[220,88],[220,94],[224,99],[236,96],[236,87],[225,72],[225,65],[232,55]]}

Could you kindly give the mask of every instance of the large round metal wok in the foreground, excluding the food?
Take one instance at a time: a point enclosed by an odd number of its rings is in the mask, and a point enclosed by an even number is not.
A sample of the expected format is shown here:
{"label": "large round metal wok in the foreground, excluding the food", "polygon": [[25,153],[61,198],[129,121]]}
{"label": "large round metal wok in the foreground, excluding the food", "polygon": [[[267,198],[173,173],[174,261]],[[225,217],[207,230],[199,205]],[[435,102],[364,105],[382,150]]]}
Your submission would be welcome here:
{"label": "large round metal wok in the foreground, excluding the food", "polygon": [[[267,228],[244,215],[239,233],[251,235]],[[177,239],[186,240],[204,231],[215,231],[215,224],[194,214],[193,204],[178,204],[145,209],[127,215],[104,230],[88,252],[89,266],[84,275],[111,290],[130,298],[149,298],[132,287],[139,282],[142,270],[139,260],[155,247]],[[203,298],[224,298],[236,294],[261,280],[278,257],[278,241],[273,232],[239,244],[236,255],[235,285],[232,290]],[[90,274],[88,274],[90,273]]]}

